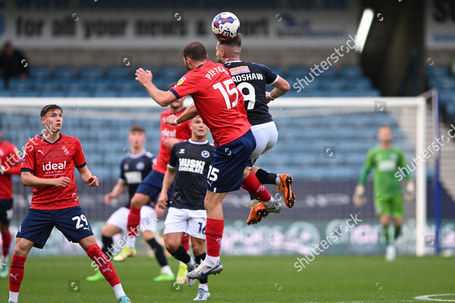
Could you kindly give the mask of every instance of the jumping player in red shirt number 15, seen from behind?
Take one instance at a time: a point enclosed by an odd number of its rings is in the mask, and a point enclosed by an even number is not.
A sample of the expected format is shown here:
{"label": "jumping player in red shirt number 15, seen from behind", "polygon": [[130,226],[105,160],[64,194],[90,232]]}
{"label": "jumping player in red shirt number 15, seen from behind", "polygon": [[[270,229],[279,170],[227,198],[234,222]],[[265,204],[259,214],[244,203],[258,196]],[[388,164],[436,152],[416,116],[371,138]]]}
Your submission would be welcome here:
{"label": "jumping player in red shirt number 15, seen from behind", "polygon": [[242,186],[261,199],[248,220],[250,223],[258,222],[266,207],[279,203],[246,169],[253,165],[250,155],[256,148],[256,140],[243,107],[243,95],[233,83],[229,71],[222,64],[207,61],[207,51],[200,42],[191,42],[183,49],[183,60],[188,72],[168,91],[157,89],[148,70],[136,70],[136,80],[161,106],[191,95],[194,103],[178,117],[174,114],[167,117],[166,124],[178,125],[200,115],[214,139],[216,149],[209,166],[204,200],[207,256],[201,265],[187,274],[188,278],[199,279],[222,271],[219,258],[224,228],[222,201],[228,192]]}

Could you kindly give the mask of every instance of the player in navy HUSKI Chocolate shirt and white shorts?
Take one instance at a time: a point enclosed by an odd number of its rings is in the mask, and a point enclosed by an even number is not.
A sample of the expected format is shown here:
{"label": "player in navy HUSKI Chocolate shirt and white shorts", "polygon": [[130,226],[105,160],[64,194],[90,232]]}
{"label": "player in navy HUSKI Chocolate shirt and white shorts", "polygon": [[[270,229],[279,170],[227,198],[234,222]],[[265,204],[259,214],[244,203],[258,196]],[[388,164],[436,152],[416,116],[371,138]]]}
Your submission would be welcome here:
{"label": "player in navy HUSKI Chocolate shirt and white shorts", "polygon": [[[209,163],[212,161],[215,147],[207,140],[208,127],[201,117],[191,119],[192,136],[188,141],[174,145],[171,158],[164,175],[163,189],[158,204],[165,209],[169,202],[169,212],[164,222],[164,243],[166,249],[177,260],[187,264],[192,271],[205,259],[205,222],[207,213],[204,198],[207,190],[207,174]],[[167,196],[167,190],[173,185],[172,196]],[[182,236],[189,234],[195,258],[191,258],[186,249],[180,245]],[[194,299],[207,300],[207,277],[199,279],[197,297]],[[193,286],[195,280],[188,279],[188,286]]]}

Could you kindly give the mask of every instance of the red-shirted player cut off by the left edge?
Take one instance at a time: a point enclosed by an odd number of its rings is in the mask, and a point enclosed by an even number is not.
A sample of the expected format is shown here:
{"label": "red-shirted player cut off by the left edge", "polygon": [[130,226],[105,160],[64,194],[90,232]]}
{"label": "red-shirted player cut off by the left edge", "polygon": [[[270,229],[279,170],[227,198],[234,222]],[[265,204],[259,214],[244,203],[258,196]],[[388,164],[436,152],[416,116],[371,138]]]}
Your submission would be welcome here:
{"label": "red-shirted player cut off by the left edge", "polygon": [[2,140],[3,133],[0,127],[0,233],[2,240],[2,254],[0,277],[8,277],[8,252],[10,250],[11,233],[10,220],[13,216],[13,185],[11,175],[20,175],[20,151],[14,144]]}

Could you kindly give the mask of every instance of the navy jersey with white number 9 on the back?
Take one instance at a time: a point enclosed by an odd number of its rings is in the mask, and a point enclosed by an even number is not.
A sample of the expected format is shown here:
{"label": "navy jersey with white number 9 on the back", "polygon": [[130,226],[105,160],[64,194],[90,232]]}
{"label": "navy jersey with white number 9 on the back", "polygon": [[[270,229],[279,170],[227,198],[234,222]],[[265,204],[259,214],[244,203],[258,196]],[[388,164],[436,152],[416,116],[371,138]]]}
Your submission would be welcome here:
{"label": "navy jersey with white number 9 on the back", "polygon": [[273,121],[265,99],[265,84],[272,85],[277,82],[278,75],[265,65],[240,60],[229,61],[224,67],[231,71],[234,84],[243,94],[250,124]]}

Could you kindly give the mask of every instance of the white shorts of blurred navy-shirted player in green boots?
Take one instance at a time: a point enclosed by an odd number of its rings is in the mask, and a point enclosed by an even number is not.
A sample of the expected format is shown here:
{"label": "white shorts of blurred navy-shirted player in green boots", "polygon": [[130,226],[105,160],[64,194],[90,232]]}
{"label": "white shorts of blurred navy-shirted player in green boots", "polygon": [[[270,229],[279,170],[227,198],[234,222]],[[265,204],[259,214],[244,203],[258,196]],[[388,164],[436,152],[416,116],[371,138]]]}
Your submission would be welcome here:
{"label": "white shorts of blurred navy-shirted player in green boots", "polygon": [[[130,210],[126,207],[121,207],[117,209],[109,219],[107,219],[107,224],[114,225],[120,228],[123,233],[126,233],[126,226],[128,225],[128,214]],[[155,233],[157,231],[158,221],[155,210],[148,205],[141,207],[141,221],[140,221],[140,231],[151,231]]]}

